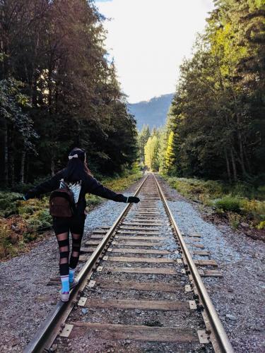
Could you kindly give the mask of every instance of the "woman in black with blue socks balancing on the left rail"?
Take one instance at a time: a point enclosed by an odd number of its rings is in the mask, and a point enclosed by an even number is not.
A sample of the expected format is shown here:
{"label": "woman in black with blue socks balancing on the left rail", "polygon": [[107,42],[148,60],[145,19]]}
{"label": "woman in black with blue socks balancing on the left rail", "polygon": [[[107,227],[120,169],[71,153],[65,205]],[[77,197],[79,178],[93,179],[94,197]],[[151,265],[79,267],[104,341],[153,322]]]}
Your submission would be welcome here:
{"label": "woman in black with blue socks balancing on the left rail", "polygon": [[[61,300],[69,300],[69,291],[77,281],[74,278],[78,263],[84,223],[86,220],[86,193],[124,203],[139,203],[139,198],[126,197],[102,186],[93,176],[86,164],[86,153],[73,148],[69,154],[66,168],[51,179],[28,191],[24,200],[52,191],[50,214],[59,244],[59,270],[61,276]],[[69,261],[69,231],[72,237],[72,252]]]}

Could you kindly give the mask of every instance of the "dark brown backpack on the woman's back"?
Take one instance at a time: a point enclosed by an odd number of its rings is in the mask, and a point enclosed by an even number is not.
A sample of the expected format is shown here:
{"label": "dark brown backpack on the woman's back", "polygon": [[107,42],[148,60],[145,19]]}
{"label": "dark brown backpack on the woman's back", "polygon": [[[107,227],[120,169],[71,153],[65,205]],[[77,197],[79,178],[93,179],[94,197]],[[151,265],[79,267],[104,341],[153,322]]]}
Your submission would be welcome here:
{"label": "dark brown backpack on the woman's back", "polygon": [[72,217],[75,209],[73,191],[64,183],[49,197],[49,214],[54,217]]}

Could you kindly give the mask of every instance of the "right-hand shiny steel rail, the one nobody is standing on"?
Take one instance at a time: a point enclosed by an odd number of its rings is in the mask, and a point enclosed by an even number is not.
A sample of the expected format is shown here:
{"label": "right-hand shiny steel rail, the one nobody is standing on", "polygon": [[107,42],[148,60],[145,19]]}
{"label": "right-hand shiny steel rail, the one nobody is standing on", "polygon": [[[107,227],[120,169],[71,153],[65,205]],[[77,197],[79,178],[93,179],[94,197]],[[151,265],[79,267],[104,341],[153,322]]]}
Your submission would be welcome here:
{"label": "right-hand shiny steel rail, the one nobody is standing on", "polygon": [[165,198],[163,190],[161,189],[160,185],[158,184],[158,181],[155,177],[155,174],[153,174],[153,176],[155,178],[155,184],[158,187],[158,191],[160,193],[161,199],[165,205],[165,209],[167,210],[167,213],[170,217],[170,221],[172,222],[172,226],[175,229],[175,232],[177,234],[177,239],[179,240],[179,244],[182,248],[184,256],[185,256],[187,263],[189,265],[189,270],[190,270],[192,277],[193,277],[193,280],[195,282],[196,289],[199,292],[199,298],[201,299],[201,303],[203,304],[204,309],[206,310],[206,314],[208,316],[208,320],[210,321],[211,328],[214,331],[220,352],[232,353],[232,352],[234,352],[234,349],[232,348],[232,345],[228,339],[228,335],[226,334],[225,329],[223,328],[223,325],[220,322],[220,318],[218,317],[218,313],[216,312],[216,309],[213,306],[211,298],[209,297],[208,292],[206,291],[206,287],[204,286],[204,282],[202,282],[202,280],[201,280],[201,275],[199,274],[199,272],[196,268],[196,265],[192,259],[191,253],[189,252],[189,249],[187,248],[187,245],[182,237],[182,234],[179,230],[179,227],[177,227],[177,223],[175,222],[175,218],[172,215],[172,212],[167,204],[167,200]]}

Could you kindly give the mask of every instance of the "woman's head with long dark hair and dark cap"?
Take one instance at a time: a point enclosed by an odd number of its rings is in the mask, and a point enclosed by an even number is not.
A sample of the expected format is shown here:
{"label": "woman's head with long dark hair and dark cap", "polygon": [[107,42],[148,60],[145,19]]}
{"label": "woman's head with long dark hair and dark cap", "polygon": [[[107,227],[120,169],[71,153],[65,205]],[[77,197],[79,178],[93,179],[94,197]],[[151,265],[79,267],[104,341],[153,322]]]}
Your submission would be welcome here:
{"label": "woman's head with long dark hair and dark cap", "polygon": [[90,170],[86,164],[86,152],[81,148],[73,148],[69,153],[69,157],[75,156],[69,159],[66,168],[64,169],[64,180],[71,183],[84,180],[88,175],[91,175]]}

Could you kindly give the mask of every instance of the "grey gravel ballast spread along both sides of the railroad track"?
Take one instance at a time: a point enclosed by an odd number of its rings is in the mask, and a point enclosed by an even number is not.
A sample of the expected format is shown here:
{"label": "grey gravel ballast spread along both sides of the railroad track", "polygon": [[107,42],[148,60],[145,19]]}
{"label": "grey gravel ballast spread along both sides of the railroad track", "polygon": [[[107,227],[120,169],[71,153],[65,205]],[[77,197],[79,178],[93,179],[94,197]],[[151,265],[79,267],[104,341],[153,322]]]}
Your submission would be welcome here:
{"label": "grey gravel ballast spread along both sides of the railroad track", "polygon": [[[132,194],[140,182],[124,194]],[[200,210],[196,203],[186,200],[164,182],[163,190],[181,232],[187,236],[200,234],[204,250],[211,253],[204,259],[215,260],[223,273],[223,277],[203,280],[235,352],[264,352],[264,242],[232,232],[227,225],[205,222],[203,208]],[[111,226],[124,206],[105,201],[91,211],[86,218],[83,244],[93,229]],[[163,208],[160,201],[158,208]],[[165,249],[174,251],[174,242],[169,240]],[[0,263],[1,352],[21,352],[57,304],[59,288],[47,286],[47,282],[50,277],[58,276],[58,261],[57,240],[51,236],[29,253]],[[126,275],[123,276],[125,279]],[[85,349],[86,342],[80,340],[80,344]],[[75,352],[84,352],[82,349],[74,347]],[[128,347],[124,349],[128,351]],[[170,352],[166,345],[164,349],[163,352]],[[106,352],[114,351],[106,346]]]}

